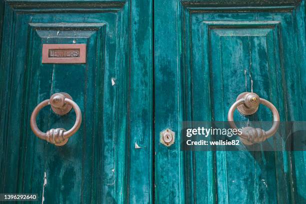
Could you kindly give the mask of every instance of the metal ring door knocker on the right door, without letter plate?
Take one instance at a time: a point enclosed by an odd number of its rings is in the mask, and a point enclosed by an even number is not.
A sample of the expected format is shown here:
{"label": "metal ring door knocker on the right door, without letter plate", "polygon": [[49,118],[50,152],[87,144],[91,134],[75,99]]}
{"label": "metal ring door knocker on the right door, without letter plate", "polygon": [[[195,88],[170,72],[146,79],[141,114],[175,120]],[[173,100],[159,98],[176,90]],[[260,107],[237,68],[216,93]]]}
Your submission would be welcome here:
{"label": "metal ring door knocker on the right door, without letter plate", "polygon": [[241,137],[241,141],[246,145],[262,142],[265,139],[271,137],[277,131],[279,126],[279,114],[276,107],[266,99],[260,98],[256,93],[243,92],[238,95],[236,101],[230,106],[228,110],[227,120],[229,125],[231,128],[237,129],[237,126],[233,121],[233,113],[235,109],[237,108],[238,111],[243,115],[251,115],[257,111],[259,103],[267,106],[272,111],[273,125],[267,131],[250,126],[243,127],[241,129],[242,133],[239,134],[239,136]]}

